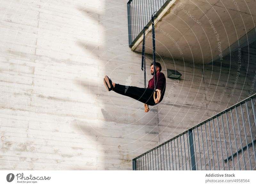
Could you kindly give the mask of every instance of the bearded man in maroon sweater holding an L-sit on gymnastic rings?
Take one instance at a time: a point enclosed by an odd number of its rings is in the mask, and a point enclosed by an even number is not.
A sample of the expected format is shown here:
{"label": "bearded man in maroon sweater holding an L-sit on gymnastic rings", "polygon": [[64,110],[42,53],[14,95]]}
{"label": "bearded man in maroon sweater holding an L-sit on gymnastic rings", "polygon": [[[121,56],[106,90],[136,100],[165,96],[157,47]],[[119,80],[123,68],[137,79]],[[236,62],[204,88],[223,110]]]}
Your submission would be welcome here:
{"label": "bearded man in maroon sweater holding an L-sit on gymnastic rings", "polygon": [[[150,72],[151,72],[151,75],[153,75],[153,78],[151,78],[148,81],[148,88],[119,85],[117,83],[113,83],[111,79],[108,78],[108,76],[105,76],[105,78],[103,79],[103,82],[108,91],[113,90],[116,93],[128,96],[144,104],[154,106],[157,103],[160,103],[164,98],[166,78],[164,76],[164,73],[161,72],[162,70],[161,64],[156,62],[156,88],[155,88],[154,87],[155,76],[154,76],[153,63],[151,63],[150,66],[151,66]],[[155,97],[156,99],[154,98],[155,89],[159,90],[159,91],[156,91],[157,92],[157,96]],[[145,112],[148,112],[148,111],[149,111],[148,107],[145,106]]]}

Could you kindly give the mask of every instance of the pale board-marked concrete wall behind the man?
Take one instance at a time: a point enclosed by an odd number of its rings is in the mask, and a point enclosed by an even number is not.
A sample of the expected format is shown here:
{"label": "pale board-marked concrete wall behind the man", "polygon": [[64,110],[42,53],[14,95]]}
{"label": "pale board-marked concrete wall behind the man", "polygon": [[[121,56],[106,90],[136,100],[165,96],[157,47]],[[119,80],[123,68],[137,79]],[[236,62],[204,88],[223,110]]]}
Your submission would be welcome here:
{"label": "pale board-marked concrete wall behind the man", "polygon": [[158,59],[165,74],[183,75],[167,79],[163,102],[147,114],[143,103],[107,92],[105,75],[143,87],[126,3],[1,1],[1,169],[131,170],[132,158],[209,118],[223,89],[218,111],[248,97],[255,64],[246,61],[231,96],[236,54],[231,67],[228,58],[221,67]]}

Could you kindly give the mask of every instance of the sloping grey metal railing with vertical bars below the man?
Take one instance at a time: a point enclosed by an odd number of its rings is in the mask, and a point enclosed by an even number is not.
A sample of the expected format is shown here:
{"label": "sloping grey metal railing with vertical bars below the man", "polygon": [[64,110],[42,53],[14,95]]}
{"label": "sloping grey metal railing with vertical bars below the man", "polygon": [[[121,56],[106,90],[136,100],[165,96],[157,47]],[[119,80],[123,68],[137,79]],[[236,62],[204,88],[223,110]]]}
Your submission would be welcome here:
{"label": "sloping grey metal railing with vertical bars below the man", "polygon": [[255,97],[134,158],[133,170],[255,170]]}

